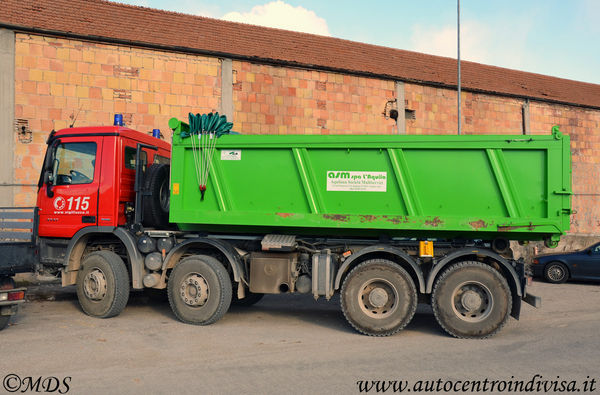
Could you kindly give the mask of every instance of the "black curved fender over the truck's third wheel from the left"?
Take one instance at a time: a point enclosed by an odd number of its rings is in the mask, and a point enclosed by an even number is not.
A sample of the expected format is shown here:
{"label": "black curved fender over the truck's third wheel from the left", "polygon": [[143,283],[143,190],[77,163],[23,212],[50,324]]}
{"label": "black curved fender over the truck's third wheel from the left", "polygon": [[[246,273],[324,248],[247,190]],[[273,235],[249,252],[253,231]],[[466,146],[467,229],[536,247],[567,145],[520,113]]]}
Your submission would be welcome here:
{"label": "black curved fender over the truck's third wheel from the left", "polygon": [[389,259],[400,265],[408,272],[408,274],[410,274],[411,278],[415,282],[415,285],[418,286],[419,293],[425,292],[425,277],[423,276],[423,271],[415,262],[415,260],[406,252],[386,245],[365,247],[355,254],[350,255],[350,257],[344,261],[342,266],[340,266],[340,269],[336,274],[335,289],[340,289],[344,278],[346,278],[348,273],[350,273],[350,270],[352,270],[355,266],[358,266],[366,260],[377,258]]}

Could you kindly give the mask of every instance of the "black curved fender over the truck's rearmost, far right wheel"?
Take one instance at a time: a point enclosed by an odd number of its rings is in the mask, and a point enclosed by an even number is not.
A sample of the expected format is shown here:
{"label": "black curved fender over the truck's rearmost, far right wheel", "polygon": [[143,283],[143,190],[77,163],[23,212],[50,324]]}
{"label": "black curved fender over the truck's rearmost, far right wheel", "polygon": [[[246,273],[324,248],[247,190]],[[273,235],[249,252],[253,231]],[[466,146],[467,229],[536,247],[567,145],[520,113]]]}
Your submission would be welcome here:
{"label": "black curved fender over the truck's rearmost, far right wheel", "polygon": [[473,248],[464,248],[457,251],[453,251],[450,254],[446,255],[440,261],[438,261],[433,268],[430,270],[427,276],[427,286],[425,292],[430,294],[433,291],[433,285],[437,278],[443,273],[443,269],[448,267],[449,265],[461,262],[465,260],[473,260],[480,261],[480,258],[487,258],[482,263],[487,265],[492,265],[492,262],[495,262],[498,265],[500,273],[506,278],[508,282],[508,286],[510,287],[512,293],[512,310],[511,315],[518,319],[521,313],[521,297],[523,296],[523,286],[519,281],[519,276],[514,267],[502,256],[497,253],[486,250],[486,249],[473,249]]}

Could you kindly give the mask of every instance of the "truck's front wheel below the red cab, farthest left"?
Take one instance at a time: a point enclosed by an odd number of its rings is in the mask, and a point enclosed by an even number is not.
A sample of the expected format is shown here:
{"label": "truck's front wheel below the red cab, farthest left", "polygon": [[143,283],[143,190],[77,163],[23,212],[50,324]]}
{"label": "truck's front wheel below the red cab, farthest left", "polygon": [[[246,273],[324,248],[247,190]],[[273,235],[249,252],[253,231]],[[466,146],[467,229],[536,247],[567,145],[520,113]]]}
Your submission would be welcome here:
{"label": "truck's front wheel below the red cab, farthest left", "polygon": [[92,252],[77,273],[77,298],[83,311],[98,318],[119,315],[129,300],[129,274],[112,251]]}

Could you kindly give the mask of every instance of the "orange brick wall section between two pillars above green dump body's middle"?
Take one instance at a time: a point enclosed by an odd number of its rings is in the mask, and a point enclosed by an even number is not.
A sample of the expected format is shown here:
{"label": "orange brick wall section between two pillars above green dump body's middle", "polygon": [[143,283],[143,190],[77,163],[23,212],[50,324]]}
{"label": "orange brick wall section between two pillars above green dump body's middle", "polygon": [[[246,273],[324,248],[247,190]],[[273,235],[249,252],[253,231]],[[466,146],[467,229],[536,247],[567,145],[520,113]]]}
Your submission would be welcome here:
{"label": "orange brick wall section between two pillars above green dump body's middle", "polygon": [[233,62],[236,130],[255,134],[388,134],[393,81]]}

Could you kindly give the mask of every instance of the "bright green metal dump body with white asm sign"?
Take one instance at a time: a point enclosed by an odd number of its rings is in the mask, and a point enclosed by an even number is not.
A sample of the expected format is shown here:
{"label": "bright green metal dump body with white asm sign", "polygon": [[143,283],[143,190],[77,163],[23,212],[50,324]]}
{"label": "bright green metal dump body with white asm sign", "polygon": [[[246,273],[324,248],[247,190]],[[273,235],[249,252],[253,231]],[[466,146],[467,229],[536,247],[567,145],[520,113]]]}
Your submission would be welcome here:
{"label": "bright green metal dump body with white asm sign", "polygon": [[180,128],[170,221],[181,230],[556,242],[569,229],[569,137],[557,128],[544,136],[224,135],[204,199]]}

